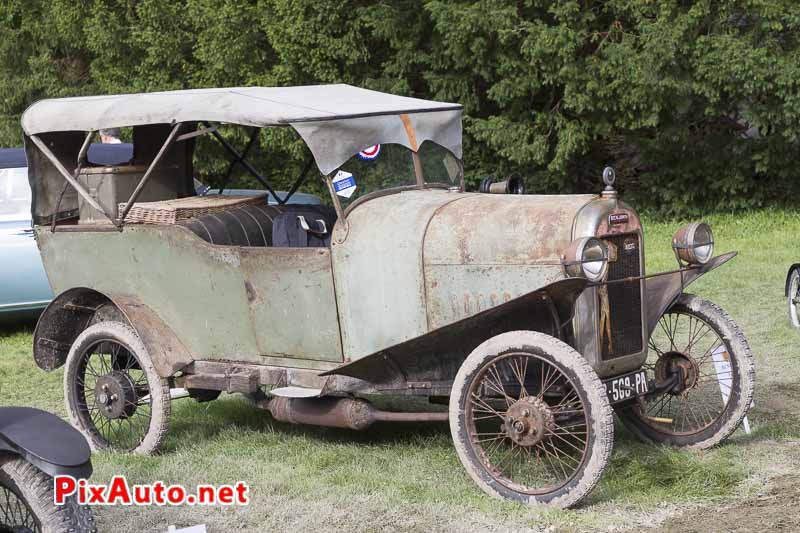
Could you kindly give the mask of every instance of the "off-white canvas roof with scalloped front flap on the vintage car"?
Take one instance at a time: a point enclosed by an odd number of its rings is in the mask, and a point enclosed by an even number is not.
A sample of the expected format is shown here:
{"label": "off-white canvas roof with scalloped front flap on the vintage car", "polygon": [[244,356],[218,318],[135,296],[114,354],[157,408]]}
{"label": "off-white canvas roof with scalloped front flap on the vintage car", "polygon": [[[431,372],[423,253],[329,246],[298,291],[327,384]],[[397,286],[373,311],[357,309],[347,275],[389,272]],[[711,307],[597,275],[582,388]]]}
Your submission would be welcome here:
{"label": "off-white canvas roof with scalloped front flap on the vintage car", "polygon": [[461,159],[461,111],[345,84],[236,87],[41,100],[22,115],[22,128],[30,137],[179,122],[291,126],[327,175],[379,143],[416,151],[431,140]]}

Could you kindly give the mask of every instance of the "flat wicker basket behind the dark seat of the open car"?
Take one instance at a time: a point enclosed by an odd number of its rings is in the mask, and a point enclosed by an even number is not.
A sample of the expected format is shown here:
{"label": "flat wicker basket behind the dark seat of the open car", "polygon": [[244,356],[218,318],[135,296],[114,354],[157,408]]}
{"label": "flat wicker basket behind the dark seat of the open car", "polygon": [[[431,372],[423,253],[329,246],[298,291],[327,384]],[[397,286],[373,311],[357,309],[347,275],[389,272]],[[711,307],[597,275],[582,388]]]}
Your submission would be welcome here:
{"label": "flat wicker basket behind the dark seat of the open car", "polygon": [[[131,224],[175,224],[180,220],[216,213],[243,205],[266,205],[266,194],[258,196],[190,196],[161,202],[136,202],[125,217]],[[119,204],[119,212],[125,209]]]}

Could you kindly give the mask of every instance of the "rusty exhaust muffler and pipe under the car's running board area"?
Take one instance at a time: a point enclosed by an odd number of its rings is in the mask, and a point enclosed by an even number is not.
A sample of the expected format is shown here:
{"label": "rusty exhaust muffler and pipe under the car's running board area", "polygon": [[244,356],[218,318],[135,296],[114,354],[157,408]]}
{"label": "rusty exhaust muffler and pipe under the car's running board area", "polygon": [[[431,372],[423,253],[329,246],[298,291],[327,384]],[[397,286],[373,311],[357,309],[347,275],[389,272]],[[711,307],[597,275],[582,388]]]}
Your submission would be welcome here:
{"label": "rusty exhaust muffler and pipe under the car's running board area", "polygon": [[357,398],[286,398],[276,396],[261,405],[275,420],[360,431],[375,422],[446,422],[443,413],[395,413],[376,409]]}

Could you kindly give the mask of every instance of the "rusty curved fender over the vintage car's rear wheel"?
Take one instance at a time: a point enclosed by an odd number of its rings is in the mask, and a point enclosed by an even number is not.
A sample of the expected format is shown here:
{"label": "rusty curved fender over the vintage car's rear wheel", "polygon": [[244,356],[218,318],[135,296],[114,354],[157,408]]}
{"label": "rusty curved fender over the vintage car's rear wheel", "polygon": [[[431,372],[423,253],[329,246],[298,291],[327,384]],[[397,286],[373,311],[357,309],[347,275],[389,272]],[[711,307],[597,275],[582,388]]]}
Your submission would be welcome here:
{"label": "rusty curved fender over the vintage car's rear wheel", "polygon": [[77,287],[59,294],[39,317],[33,334],[36,365],[46,371],[61,367],[78,335],[101,320],[129,324],[162,378],[173,376],[193,361],[172,329],[138,298]]}

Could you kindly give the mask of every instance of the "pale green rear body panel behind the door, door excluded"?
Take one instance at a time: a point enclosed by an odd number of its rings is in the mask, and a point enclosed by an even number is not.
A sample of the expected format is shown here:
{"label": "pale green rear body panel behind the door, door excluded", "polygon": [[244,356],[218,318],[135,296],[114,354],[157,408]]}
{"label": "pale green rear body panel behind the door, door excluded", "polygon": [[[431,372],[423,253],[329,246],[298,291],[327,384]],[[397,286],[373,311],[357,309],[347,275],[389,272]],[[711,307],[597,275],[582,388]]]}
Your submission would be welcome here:
{"label": "pale green rear body panel behind the door, door excluded", "polygon": [[181,226],[55,233],[40,227],[37,238],[56,294],[88,287],[133,295],[195,359],[257,357],[238,249],[212,246]]}

